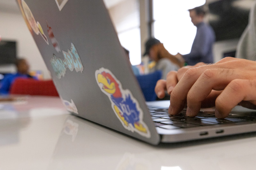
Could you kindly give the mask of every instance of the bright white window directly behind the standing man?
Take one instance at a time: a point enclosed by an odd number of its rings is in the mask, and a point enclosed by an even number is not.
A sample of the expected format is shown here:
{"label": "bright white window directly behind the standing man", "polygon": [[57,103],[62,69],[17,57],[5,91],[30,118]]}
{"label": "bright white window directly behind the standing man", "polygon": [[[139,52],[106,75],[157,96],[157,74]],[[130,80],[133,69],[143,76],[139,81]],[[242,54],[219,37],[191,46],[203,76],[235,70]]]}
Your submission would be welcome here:
{"label": "bright white window directly behind the standing man", "polygon": [[205,0],[153,0],[153,34],[173,55],[190,53],[196,26],[188,9],[205,4]]}

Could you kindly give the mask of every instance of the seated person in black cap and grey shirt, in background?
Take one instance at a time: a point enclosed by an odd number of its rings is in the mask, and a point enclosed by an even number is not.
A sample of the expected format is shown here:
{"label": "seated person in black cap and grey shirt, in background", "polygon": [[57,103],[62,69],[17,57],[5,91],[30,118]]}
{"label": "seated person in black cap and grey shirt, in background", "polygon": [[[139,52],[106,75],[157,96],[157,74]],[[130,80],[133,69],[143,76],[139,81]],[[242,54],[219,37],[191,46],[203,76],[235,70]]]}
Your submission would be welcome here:
{"label": "seated person in black cap and grey shirt, in background", "polygon": [[179,56],[170,54],[156,38],[150,38],[145,43],[146,51],[143,56],[148,55],[151,61],[155,62],[155,65],[149,68],[149,72],[152,73],[156,70],[162,71],[162,79],[166,79],[166,75],[169,71],[178,70],[183,66],[184,60]]}

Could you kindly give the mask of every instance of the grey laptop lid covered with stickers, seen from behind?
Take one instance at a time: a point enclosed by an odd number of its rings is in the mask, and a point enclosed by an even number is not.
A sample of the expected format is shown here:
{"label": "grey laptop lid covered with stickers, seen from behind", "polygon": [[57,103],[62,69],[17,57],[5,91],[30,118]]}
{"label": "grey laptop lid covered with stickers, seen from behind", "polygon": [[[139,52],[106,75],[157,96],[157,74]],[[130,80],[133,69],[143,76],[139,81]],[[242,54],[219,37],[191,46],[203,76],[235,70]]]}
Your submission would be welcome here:
{"label": "grey laptop lid covered with stickers, seen from behind", "polygon": [[17,1],[67,109],[148,143],[159,143],[103,1]]}

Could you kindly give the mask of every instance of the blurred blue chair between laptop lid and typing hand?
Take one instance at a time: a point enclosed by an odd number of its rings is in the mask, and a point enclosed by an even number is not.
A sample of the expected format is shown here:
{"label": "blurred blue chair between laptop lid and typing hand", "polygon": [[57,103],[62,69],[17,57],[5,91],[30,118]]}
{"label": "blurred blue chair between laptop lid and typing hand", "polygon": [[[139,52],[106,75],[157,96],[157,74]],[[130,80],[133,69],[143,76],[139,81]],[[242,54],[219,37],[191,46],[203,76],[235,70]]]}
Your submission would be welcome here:
{"label": "blurred blue chair between laptop lid and typing hand", "polygon": [[155,86],[156,86],[156,82],[159,79],[161,79],[161,76],[162,76],[161,71],[156,71],[150,74],[136,76],[146,101],[156,100]]}

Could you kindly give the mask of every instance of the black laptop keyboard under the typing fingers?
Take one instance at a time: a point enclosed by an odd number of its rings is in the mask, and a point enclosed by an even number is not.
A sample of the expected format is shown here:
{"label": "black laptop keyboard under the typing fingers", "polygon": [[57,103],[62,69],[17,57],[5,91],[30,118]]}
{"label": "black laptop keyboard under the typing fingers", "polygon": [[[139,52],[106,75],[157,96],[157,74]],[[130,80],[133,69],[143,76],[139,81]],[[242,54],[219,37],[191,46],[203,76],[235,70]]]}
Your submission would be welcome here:
{"label": "black laptop keyboard under the typing fingers", "polygon": [[217,124],[230,124],[237,122],[251,122],[256,121],[255,117],[243,115],[228,115],[225,119],[217,119],[214,112],[199,112],[195,117],[186,116],[186,110],[183,110],[178,115],[169,115],[168,109],[159,109],[149,107],[149,113],[156,127],[164,129],[177,128],[192,128],[199,126],[211,126]]}

